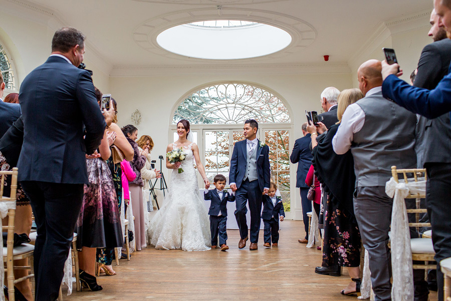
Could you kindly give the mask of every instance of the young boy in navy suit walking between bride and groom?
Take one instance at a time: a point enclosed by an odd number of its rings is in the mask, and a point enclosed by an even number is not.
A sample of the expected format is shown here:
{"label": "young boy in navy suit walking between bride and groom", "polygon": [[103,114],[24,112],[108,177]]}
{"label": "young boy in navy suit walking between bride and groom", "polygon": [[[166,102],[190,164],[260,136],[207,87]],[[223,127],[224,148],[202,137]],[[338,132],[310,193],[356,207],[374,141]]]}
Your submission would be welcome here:
{"label": "young boy in navy suit walking between bride and groom", "polygon": [[211,248],[217,248],[217,236],[219,234],[219,246],[221,251],[228,250],[227,244],[227,202],[235,201],[235,193],[232,195],[224,190],[227,180],[222,175],[216,175],[213,179],[213,185],[215,189],[208,190],[208,186],[205,186],[205,192],[203,198],[205,200],[211,200],[210,209],[208,214],[210,215],[210,231],[211,231]]}

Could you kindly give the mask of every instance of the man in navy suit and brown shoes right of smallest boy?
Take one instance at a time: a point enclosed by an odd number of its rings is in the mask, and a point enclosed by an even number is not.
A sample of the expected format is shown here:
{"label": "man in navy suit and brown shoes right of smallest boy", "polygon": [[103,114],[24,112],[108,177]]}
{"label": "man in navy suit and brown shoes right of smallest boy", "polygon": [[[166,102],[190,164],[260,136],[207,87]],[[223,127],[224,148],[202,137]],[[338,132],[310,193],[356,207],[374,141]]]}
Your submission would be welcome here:
{"label": "man in navy suit and brown shoes right of smallest boy", "polygon": [[305,178],[309,172],[310,166],[312,165],[312,152],[310,150],[310,133],[307,132],[307,122],[302,124],[301,127],[302,134],[301,137],[295,141],[293,146],[293,152],[290,156],[290,161],[293,164],[298,164],[298,170],[296,171],[296,187],[299,187],[301,192],[301,206],[302,206],[302,218],[304,220],[304,230],[305,237],[298,239],[300,243],[309,242],[309,218],[307,212],[312,211],[312,201],[307,199],[307,193],[309,191],[309,186],[305,184]]}

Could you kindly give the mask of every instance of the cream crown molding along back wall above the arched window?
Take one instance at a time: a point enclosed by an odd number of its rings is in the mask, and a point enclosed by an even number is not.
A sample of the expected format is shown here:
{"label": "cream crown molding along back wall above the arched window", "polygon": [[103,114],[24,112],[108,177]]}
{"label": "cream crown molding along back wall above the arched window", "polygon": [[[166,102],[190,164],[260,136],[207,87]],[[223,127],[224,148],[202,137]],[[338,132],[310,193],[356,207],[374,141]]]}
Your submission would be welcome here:
{"label": "cream crown molding along back wall above the arched window", "polygon": [[205,64],[205,65],[147,65],[113,66],[111,77],[145,77],[205,74],[306,74],[306,73],[350,73],[346,62],[305,64]]}

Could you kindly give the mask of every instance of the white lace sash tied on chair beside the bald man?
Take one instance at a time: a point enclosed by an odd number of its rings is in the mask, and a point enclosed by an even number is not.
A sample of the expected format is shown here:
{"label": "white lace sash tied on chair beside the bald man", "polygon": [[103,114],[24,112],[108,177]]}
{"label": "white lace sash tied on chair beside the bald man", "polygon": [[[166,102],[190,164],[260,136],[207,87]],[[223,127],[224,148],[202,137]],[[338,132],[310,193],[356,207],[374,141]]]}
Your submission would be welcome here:
{"label": "white lace sash tied on chair beside the bald man", "polygon": [[408,183],[397,183],[393,178],[385,184],[385,193],[393,198],[393,209],[391,211],[391,268],[393,274],[393,285],[391,298],[393,301],[413,300],[413,269],[412,252],[410,250],[409,221],[405,208],[404,198],[410,194],[424,195],[426,181],[421,179],[414,182],[409,179]]}

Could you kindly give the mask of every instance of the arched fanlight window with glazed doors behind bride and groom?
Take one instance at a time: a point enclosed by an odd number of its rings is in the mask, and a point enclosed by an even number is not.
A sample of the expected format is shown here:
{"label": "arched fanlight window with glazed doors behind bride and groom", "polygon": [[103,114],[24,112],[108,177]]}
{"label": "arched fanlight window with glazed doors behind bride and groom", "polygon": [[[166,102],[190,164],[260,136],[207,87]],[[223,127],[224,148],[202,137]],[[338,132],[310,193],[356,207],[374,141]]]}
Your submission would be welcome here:
{"label": "arched fanlight window with glazed doors behind bride and groom", "polygon": [[244,139],[246,119],[256,119],[257,137],[270,147],[271,178],[278,184],[285,211],[291,211],[290,187],[296,186],[291,180],[295,181],[296,177],[290,177],[293,125],[287,107],[278,96],[253,84],[210,85],[189,93],[175,109],[171,126],[174,140],[177,139],[175,126],[180,119],[187,119],[191,124],[210,182],[216,174],[229,179],[233,146]]}

